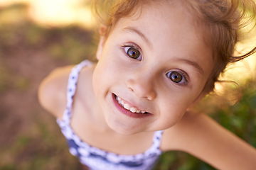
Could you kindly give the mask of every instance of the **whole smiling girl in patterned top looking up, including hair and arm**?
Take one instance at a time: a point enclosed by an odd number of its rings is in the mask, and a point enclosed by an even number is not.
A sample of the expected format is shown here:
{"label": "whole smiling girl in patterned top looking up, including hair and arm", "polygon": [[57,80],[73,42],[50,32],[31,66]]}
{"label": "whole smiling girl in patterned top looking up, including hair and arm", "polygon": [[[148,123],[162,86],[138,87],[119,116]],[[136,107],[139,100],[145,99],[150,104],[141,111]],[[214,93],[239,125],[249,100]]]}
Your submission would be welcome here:
{"label": "whole smiling girl in patterned top looking up, including hair and arm", "polygon": [[190,109],[229,62],[255,52],[233,57],[248,9],[255,15],[253,1],[117,1],[100,27],[97,64],[56,69],[39,88],[71,154],[90,169],[152,169],[170,150],[255,169],[255,148]]}

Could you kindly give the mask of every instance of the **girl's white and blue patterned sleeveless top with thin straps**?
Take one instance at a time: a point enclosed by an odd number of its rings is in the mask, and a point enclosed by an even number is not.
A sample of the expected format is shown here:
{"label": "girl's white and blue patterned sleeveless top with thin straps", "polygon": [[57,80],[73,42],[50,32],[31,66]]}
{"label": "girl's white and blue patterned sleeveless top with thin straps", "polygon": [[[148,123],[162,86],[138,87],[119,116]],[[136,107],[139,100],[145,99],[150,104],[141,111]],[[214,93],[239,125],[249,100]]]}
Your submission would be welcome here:
{"label": "girl's white and blue patterned sleeveless top with thin straps", "polygon": [[161,136],[163,131],[156,131],[152,140],[152,145],[146,152],[135,155],[122,155],[106,152],[105,150],[92,147],[83,142],[78,135],[75,134],[70,126],[72,117],[73,96],[78,81],[79,72],[82,67],[92,64],[85,60],[76,65],[70,73],[68,80],[68,103],[63,114],[63,118],[57,119],[63,135],[67,139],[70,153],[80,159],[80,162],[92,170],[149,170],[156,164],[161,150],[159,149]]}

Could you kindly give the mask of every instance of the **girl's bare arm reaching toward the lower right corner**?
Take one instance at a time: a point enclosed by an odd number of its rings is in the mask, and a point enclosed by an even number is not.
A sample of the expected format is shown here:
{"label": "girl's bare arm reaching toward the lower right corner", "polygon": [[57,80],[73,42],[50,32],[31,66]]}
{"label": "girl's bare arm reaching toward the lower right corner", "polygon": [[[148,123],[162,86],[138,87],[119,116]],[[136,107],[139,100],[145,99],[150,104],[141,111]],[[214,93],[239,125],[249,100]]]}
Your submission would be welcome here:
{"label": "girl's bare arm reaching toward the lower right corner", "polygon": [[163,149],[181,150],[217,169],[255,169],[256,149],[218,125],[207,115],[187,113],[166,130]]}

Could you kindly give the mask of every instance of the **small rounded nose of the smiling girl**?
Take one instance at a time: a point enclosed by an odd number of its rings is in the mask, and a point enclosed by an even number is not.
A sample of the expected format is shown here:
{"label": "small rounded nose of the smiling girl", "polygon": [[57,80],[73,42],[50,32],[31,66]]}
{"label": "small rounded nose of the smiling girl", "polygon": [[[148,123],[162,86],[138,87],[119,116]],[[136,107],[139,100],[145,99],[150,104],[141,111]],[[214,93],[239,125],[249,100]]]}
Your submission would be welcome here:
{"label": "small rounded nose of the smiling girl", "polygon": [[141,73],[134,73],[134,76],[127,80],[127,87],[139,98],[146,98],[149,101],[156,98],[153,77],[147,77]]}

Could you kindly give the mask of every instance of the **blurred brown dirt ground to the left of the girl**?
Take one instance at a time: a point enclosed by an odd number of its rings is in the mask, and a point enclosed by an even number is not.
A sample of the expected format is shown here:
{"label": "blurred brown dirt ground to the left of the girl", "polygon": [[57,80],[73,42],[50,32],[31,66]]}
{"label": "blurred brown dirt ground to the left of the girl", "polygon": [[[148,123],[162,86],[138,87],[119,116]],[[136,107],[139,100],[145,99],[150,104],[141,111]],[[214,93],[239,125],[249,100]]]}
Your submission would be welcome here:
{"label": "blurred brown dirt ground to the left of the girl", "polygon": [[[55,67],[92,57],[93,33],[37,26],[26,10],[0,8],[0,169],[80,169],[55,118],[39,106],[37,89]],[[1,20],[9,13],[18,19]]]}

